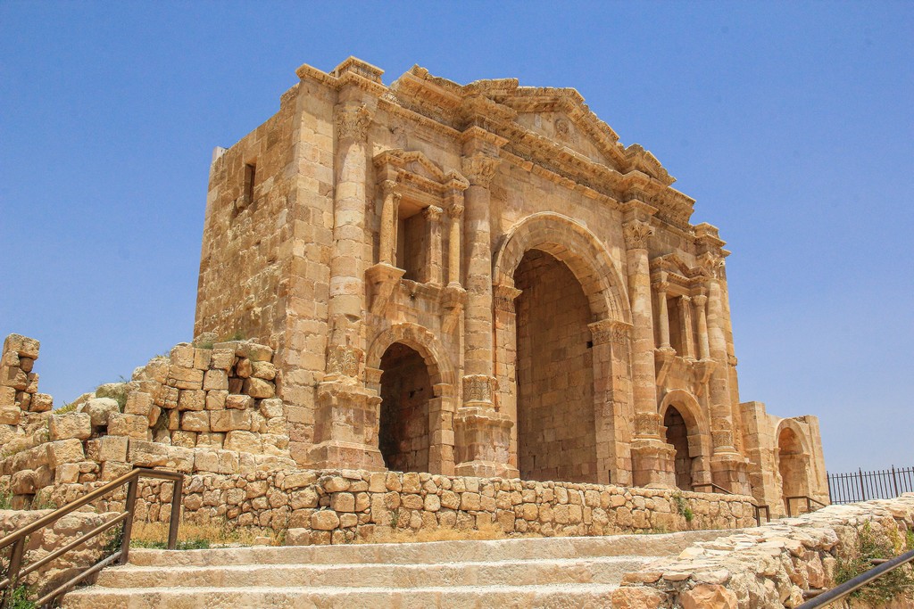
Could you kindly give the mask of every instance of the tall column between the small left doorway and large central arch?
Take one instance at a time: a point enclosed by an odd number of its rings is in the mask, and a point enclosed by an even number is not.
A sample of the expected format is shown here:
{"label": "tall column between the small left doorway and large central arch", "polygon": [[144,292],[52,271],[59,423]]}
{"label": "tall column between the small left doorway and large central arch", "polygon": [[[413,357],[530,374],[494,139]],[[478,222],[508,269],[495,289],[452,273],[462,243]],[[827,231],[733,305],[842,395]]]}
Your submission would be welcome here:
{"label": "tall column between the small left doorway and large central arch", "polygon": [[466,309],[463,331],[463,404],[454,417],[459,476],[514,478],[509,464],[511,418],[494,404],[491,193],[489,184],[505,144],[480,127],[463,132],[462,170],[470,186],[464,193],[463,248],[466,261]]}

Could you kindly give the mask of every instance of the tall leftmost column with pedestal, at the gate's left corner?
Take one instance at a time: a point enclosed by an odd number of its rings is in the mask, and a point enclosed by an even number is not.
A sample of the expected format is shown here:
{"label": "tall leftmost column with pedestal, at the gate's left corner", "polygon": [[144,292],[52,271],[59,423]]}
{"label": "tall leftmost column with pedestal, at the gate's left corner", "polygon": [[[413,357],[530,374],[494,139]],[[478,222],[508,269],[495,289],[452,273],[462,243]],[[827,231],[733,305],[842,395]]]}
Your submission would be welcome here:
{"label": "tall leftmost column with pedestal, at the gate's left corner", "polygon": [[364,382],[363,323],[366,297],[368,127],[373,110],[358,87],[339,93],[335,107],[335,247],[327,304],[330,338],[324,380],[314,415],[313,467],[384,468],[377,449],[380,398]]}

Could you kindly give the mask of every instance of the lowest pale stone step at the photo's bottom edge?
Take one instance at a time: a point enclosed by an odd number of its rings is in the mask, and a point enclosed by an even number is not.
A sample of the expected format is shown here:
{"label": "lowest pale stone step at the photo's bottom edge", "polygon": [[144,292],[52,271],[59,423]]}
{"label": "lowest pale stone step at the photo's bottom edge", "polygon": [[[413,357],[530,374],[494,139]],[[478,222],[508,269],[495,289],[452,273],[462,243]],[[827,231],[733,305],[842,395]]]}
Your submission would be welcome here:
{"label": "lowest pale stone step at the photo's bottom edge", "polygon": [[320,607],[330,609],[428,609],[446,607],[581,607],[610,606],[611,584],[530,586],[444,586],[391,588],[103,588],[92,586],[67,594],[62,609],[236,609],[240,607]]}

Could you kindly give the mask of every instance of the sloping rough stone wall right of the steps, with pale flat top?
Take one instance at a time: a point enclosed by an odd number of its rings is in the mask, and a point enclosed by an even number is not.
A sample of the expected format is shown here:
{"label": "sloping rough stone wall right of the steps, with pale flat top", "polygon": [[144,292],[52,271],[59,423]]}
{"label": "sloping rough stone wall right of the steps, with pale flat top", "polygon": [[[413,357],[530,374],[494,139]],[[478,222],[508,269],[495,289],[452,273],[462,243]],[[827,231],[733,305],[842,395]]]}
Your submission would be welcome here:
{"label": "sloping rough stone wall right of the steps, with pale flat top", "polygon": [[[903,541],[914,530],[914,493],[772,521],[672,560],[627,573],[613,607],[756,609],[795,607],[804,590],[832,588],[838,558],[851,558],[864,523],[877,537]],[[898,606],[910,606],[914,596]],[[860,605],[854,605],[860,606]]]}

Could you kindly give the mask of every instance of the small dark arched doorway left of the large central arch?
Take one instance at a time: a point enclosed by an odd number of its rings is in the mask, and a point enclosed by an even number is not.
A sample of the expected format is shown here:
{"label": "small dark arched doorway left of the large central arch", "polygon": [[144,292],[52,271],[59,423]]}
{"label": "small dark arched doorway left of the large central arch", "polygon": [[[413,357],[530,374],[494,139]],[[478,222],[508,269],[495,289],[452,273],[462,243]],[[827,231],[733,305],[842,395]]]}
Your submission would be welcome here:
{"label": "small dark arched doorway left of the large central arch", "polygon": [[381,356],[377,445],[395,471],[429,471],[431,379],[422,356],[394,342]]}

